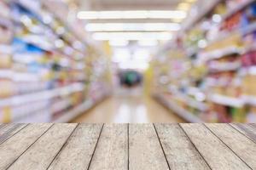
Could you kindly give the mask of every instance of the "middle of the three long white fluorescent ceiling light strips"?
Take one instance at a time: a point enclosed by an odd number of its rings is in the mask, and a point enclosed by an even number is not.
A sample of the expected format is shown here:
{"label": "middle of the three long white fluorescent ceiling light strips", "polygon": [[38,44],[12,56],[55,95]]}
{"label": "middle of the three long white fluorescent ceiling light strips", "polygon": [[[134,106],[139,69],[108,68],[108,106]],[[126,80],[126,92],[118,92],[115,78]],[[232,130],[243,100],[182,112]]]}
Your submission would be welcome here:
{"label": "middle of the three long white fluorescent ceiling light strips", "polygon": [[179,31],[177,23],[90,23],[86,31]]}

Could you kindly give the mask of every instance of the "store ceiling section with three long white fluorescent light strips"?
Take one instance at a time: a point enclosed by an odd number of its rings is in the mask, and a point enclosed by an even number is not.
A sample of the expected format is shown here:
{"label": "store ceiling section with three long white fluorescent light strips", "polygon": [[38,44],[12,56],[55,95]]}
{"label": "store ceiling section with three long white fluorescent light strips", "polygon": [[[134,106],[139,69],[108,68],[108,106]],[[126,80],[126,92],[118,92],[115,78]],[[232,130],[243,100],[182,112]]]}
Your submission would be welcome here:
{"label": "store ceiling section with three long white fluorescent light strips", "polygon": [[85,30],[90,31],[97,40],[110,40],[112,37],[169,40],[181,29],[181,23],[195,1],[77,0],[77,16],[84,20]]}

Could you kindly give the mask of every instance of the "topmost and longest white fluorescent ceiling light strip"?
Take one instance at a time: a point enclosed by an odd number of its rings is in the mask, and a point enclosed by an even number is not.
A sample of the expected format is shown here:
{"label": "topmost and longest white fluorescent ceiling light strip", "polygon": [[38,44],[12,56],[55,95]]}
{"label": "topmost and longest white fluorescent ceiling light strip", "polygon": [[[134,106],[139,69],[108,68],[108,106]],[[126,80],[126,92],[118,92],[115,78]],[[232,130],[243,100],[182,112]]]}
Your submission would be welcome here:
{"label": "topmost and longest white fluorescent ceiling light strip", "polygon": [[80,20],[119,20],[119,19],[184,19],[183,10],[129,10],[129,11],[80,11]]}

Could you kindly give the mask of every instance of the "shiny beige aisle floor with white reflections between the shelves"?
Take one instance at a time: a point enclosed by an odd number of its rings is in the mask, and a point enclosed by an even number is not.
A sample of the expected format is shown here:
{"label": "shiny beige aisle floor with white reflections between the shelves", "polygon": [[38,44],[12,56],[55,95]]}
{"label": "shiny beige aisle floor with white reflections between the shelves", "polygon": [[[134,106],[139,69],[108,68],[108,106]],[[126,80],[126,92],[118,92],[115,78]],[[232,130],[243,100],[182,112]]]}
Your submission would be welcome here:
{"label": "shiny beige aisle floor with white reflections between the shelves", "polygon": [[73,122],[148,123],[184,122],[154,99],[143,96],[113,96]]}

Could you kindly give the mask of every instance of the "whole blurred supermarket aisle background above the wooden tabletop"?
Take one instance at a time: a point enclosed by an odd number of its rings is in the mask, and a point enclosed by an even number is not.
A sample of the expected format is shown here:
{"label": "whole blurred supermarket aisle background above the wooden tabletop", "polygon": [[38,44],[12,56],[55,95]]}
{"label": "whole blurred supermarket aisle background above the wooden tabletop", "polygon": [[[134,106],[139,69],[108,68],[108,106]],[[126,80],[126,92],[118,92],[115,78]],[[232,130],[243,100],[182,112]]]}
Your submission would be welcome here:
{"label": "whole blurred supermarket aisle background above the wooden tabletop", "polygon": [[255,44],[255,0],[2,0],[0,123],[256,122]]}

